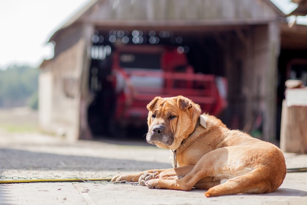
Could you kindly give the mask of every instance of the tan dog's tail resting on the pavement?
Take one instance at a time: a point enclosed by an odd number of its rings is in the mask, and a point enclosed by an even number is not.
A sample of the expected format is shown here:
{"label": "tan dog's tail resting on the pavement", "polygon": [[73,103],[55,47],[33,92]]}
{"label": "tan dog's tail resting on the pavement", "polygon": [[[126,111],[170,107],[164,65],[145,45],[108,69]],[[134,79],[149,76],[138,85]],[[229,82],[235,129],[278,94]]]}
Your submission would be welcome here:
{"label": "tan dog's tail resting on the pavement", "polygon": [[[205,192],[206,197],[217,197],[239,193],[269,193],[278,189],[285,172],[276,173],[275,176],[263,175],[263,170],[253,170],[242,176],[229,179],[223,184],[213,186]],[[258,177],[257,177],[258,176]]]}

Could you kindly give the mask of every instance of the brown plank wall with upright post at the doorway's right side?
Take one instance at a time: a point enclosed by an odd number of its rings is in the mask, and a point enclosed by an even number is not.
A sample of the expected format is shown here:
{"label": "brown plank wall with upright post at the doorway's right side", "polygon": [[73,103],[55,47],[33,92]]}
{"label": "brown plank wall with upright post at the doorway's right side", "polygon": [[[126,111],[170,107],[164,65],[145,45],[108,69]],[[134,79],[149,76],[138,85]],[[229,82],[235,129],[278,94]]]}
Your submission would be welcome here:
{"label": "brown plank wall with upright post at the doorway's right side", "polygon": [[[276,139],[277,60],[280,50],[278,24],[256,27],[252,57],[254,69],[247,111],[262,117],[263,140]],[[247,113],[248,115],[248,113]]]}

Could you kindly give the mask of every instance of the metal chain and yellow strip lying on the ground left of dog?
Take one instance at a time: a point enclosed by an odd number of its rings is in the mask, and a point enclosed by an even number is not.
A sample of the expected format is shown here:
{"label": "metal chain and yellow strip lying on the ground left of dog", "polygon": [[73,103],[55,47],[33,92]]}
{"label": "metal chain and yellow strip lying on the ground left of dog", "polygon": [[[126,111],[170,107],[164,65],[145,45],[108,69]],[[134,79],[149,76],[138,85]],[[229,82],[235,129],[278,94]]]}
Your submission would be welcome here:
{"label": "metal chain and yellow strip lying on the ground left of dog", "polygon": [[[30,180],[44,180],[45,182],[54,181],[54,180],[61,180],[65,181],[65,179],[76,179],[81,182],[85,183],[94,183],[94,184],[131,184],[131,185],[139,185],[139,182],[130,182],[127,180],[121,180],[121,181],[110,181],[110,180],[91,180],[84,177],[66,177],[66,178],[39,178],[39,177],[20,177],[20,176],[0,176],[0,179],[12,179],[12,180],[28,180],[28,182],[31,182]],[[74,181],[72,181],[74,182]]]}

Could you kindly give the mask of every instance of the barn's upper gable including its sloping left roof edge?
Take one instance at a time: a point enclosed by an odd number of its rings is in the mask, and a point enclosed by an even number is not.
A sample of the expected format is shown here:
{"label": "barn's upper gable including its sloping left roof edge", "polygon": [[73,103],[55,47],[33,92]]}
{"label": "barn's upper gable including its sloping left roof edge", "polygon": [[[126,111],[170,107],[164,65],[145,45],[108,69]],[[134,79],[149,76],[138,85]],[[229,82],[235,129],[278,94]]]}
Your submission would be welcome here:
{"label": "barn's upper gable including its sloping left roof edge", "polygon": [[265,24],[285,14],[270,0],[91,0],[50,38],[86,22],[96,26],[198,27]]}

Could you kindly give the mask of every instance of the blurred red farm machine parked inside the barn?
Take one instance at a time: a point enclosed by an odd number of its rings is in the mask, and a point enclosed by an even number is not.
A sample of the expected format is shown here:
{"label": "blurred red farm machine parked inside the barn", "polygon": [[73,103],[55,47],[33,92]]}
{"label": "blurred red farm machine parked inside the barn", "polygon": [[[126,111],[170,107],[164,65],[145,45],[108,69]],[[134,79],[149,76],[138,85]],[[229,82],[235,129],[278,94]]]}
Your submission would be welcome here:
{"label": "blurred red farm machine parked inside the barn", "polygon": [[226,106],[225,78],[195,73],[177,47],[126,45],[112,57],[116,106],[111,126],[146,125],[146,105],[155,97],[183,95],[203,112],[218,115]]}

